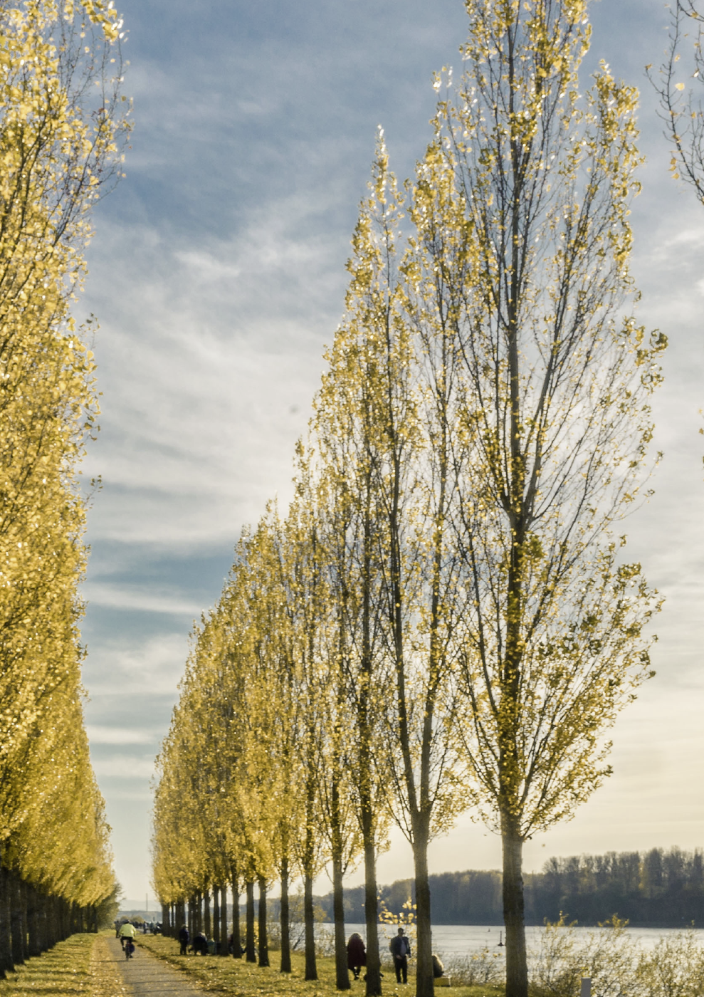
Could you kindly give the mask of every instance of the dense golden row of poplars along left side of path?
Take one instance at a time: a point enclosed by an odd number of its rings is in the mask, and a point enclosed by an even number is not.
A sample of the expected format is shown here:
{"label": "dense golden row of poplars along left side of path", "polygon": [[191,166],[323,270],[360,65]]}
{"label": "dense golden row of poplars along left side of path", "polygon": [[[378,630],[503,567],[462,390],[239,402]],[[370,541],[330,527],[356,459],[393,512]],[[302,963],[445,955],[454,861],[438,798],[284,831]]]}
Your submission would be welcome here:
{"label": "dense golden row of poplars along left side of path", "polygon": [[93,354],[70,316],[120,168],[112,4],[0,4],[0,975],[115,895],[83,721],[78,465]]}

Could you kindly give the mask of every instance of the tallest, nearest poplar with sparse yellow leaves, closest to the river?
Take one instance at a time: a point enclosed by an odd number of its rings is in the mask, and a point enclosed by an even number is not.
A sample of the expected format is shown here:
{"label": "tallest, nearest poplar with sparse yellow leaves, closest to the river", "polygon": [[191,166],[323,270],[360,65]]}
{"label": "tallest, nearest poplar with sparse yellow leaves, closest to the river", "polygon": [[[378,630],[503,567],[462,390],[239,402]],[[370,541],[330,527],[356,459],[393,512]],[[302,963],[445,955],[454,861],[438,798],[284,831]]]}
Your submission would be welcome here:
{"label": "tallest, nearest poplar with sparse yellow leaves, closest to the river", "polygon": [[613,531],[642,486],[665,343],[625,307],[637,94],[601,65],[580,96],[586,4],[468,13],[435,143],[470,232],[461,730],[474,799],[502,834],[507,994],[527,997],[523,844],[608,775],[603,732],[650,674],[657,600]]}

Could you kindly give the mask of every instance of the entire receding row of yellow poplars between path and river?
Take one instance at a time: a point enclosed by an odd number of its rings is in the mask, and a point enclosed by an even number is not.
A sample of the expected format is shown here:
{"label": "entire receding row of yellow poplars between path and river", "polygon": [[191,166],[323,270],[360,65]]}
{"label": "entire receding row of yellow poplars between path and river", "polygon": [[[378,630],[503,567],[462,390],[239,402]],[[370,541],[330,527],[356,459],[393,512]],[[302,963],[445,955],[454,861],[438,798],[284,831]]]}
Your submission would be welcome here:
{"label": "entire receding row of yellow poplars between path and river", "polygon": [[242,535],[195,630],[156,791],[163,903],[229,883],[236,910],[242,884],[280,881],[284,971],[289,877],[314,978],[331,868],[340,989],[359,856],[369,995],[390,824],[430,997],[428,846],[471,810],[502,837],[507,995],[527,997],[524,842],[608,775],[658,608],[617,533],[665,346],[630,310],[637,93],[603,64],[579,89],[584,0],[466,6],[462,77],[436,78],[402,188],[380,133],[295,497]]}

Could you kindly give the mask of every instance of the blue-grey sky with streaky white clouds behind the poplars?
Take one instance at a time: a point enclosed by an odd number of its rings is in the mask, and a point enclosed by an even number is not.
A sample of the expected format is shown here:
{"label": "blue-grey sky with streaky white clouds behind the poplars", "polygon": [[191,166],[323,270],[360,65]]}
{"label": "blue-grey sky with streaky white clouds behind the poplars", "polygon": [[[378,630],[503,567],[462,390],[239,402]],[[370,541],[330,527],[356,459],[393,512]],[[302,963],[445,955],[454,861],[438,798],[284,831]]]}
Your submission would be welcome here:
{"label": "blue-grey sky with streaky white clouds behind the poplars", "polygon": [[[188,633],[217,598],[244,523],[290,498],[341,317],[345,260],[378,125],[412,174],[430,138],[434,71],[454,65],[461,0],[125,0],[126,178],[100,203],[90,277],[101,432],[84,474],[86,723],[125,895],[155,904],[150,781]],[[646,63],[666,35],[660,0],[591,7],[586,73],[605,59],[642,88],[647,163],[633,205],[638,320],[667,334],[655,496],[625,528],[666,597],[657,676],[619,719],[614,773],[573,821],[529,841],[549,855],[704,844],[704,208],[668,175]],[[496,868],[499,838],[472,821],[431,845],[431,871]],[[412,874],[392,835],[379,879]],[[362,879],[361,870],[348,877]],[[320,891],[329,884],[322,878]]]}

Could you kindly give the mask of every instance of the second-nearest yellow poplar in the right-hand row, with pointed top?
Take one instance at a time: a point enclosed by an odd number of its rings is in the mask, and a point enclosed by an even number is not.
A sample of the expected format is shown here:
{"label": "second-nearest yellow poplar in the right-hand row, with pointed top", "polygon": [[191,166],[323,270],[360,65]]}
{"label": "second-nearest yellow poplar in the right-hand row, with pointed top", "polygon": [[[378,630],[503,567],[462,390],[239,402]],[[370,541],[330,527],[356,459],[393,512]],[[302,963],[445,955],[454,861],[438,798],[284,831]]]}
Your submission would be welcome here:
{"label": "second-nearest yellow poplar in the right-hand row, with pointed top", "polygon": [[[429,995],[428,846],[464,804],[454,772],[454,708],[448,695],[462,601],[461,560],[450,518],[456,492],[450,414],[456,351],[436,288],[421,275],[417,243],[399,267],[404,198],[389,172],[382,137],[370,187],[348,264],[347,315],[336,333],[319,406],[321,415],[323,404],[329,407],[328,419],[335,406],[342,417],[334,432],[322,420],[319,427],[328,451],[345,446],[341,434],[348,434],[352,460],[367,474],[364,487],[373,503],[366,536],[376,581],[371,626],[379,654],[377,696],[386,721],[375,756],[385,809],[413,847],[416,986],[419,995]],[[422,214],[419,201],[415,216],[420,220]],[[409,291],[411,273],[415,287]],[[348,481],[359,474],[352,460],[345,461]],[[352,577],[364,585],[367,574],[365,568]]]}

